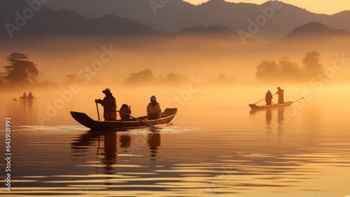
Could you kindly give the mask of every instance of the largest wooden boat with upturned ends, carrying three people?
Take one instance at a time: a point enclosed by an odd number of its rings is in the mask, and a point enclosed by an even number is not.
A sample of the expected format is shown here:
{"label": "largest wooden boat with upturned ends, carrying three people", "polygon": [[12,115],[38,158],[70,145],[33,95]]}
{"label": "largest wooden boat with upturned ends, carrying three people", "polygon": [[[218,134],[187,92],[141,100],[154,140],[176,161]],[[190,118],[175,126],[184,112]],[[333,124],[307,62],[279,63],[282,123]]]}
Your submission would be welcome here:
{"label": "largest wooden boat with upturned ends, carrying three people", "polygon": [[[176,116],[177,108],[167,108],[164,112],[162,112],[162,118],[144,121],[150,125],[167,125],[172,122],[174,117]],[[94,121],[92,118],[87,116],[84,113],[71,111],[71,116],[78,121],[78,123],[85,125],[87,128],[91,128],[92,130],[110,130],[110,129],[119,129],[119,128],[139,128],[148,126],[141,121],[137,121],[135,118],[131,118],[130,121]],[[140,120],[146,119],[147,116],[139,117]]]}

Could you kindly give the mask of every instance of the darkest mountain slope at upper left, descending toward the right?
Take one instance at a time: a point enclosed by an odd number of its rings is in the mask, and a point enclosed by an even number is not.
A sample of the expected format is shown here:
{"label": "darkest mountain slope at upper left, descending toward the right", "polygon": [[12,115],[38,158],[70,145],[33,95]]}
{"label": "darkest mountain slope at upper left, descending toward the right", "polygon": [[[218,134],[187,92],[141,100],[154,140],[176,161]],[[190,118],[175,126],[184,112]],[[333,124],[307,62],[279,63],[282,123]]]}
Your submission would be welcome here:
{"label": "darkest mountain slope at upper left, descending toward the right", "polygon": [[[156,30],[151,25],[122,18],[116,15],[104,15],[101,18],[86,18],[68,10],[52,11],[42,8],[32,18],[25,19],[25,25],[16,25],[21,10],[28,8],[25,1],[1,1],[0,6],[6,6],[7,12],[0,14],[2,24],[11,24],[19,30],[13,31],[14,37],[23,36],[64,36],[64,35],[92,35],[92,36],[159,36],[165,32]],[[23,16],[22,16],[23,17]],[[6,27],[0,29],[1,38],[9,38]]]}

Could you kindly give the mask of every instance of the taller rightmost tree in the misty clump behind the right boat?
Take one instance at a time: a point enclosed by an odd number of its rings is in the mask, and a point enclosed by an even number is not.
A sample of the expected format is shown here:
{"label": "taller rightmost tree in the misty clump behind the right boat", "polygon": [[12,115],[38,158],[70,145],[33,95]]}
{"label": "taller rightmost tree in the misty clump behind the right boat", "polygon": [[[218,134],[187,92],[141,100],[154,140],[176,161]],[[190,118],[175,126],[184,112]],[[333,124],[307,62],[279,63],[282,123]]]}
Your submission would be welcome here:
{"label": "taller rightmost tree in the misty clump behind the right boat", "polygon": [[304,57],[302,57],[302,64],[304,65],[304,71],[309,76],[314,76],[318,73],[324,74],[320,53],[316,50],[305,53]]}

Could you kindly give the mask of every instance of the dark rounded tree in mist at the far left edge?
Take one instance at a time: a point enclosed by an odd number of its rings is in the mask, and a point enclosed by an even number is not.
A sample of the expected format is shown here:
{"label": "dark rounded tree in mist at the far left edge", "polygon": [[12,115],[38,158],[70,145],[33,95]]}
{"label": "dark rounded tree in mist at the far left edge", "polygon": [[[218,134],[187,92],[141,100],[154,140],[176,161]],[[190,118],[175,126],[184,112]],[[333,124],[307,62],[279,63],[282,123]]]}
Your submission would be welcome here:
{"label": "dark rounded tree in mist at the far left edge", "polygon": [[35,83],[38,78],[36,64],[29,61],[25,53],[11,53],[6,58],[8,66],[4,66],[3,80],[10,85],[28,85]]}

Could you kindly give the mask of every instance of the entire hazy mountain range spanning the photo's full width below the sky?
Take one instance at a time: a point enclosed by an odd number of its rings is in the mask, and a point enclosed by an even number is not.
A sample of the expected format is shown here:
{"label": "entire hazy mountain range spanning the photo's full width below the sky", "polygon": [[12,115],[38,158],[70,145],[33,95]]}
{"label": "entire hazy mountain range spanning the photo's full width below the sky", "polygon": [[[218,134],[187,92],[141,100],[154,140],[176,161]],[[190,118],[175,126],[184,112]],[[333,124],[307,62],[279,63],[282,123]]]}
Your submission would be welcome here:
{"label": "entire hazy mountain range spanning the photo's full width below the sky", "polygon": [[[81,6],[82,4],[85,6]],[[307,34],[322,33],[329,36],[349,34],[344,30],[332,29],[346,29],[350,32],[350,11],[336,15],[317,15],[279,2],[280,9],[268,13],[273,10],[273,4],[277,4],[277,1],[255,5],[211,0],[194,6],[181,0],[172,0],[169,4],[159,7],[155,14],[149,1],[145,0],[99,0],[98,2],[96,0],[51,0],[46,6],[51,8],[62,6],[72,11],[41,8],[40,11],[33,11],[32,17],[26,19],[23,11],[31,8],[27,1],[3,0],[0,1],[0,24],[3,24],[0,29],[0,38],[8,38],[11,28],[11,33],[15,37],[230,34],[239,38],[237,32],[240,30],[249,32],[248,19],[258,24],[256,26],[258,32],[253,34],[253,39],[260,41],[276,41],[282,37],[288,39]],[[81,15],[74,11],[78,11]],[[99,16],[99,18],[87,18],[83,15]],[[255,20],[259,15],[266,15],[264,25],[261,25],[261,21],[259,23],[259,20],[258,22]],[[25,24],[16,25],[16,20],[21,17],[24,18]],[[175,32],[175,34],[169,32]]]}

